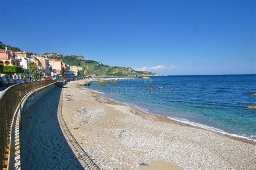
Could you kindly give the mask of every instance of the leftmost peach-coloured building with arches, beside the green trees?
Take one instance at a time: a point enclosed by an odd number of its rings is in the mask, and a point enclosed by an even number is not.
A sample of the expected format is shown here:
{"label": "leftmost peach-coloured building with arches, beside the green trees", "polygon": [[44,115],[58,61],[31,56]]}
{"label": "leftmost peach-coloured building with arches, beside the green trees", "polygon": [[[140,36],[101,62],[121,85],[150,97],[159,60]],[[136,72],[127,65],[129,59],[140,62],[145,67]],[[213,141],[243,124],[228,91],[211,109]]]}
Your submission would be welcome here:
{"label": "leftmost peach-coloured building with arches, beside the green trees", "polygon": [[0,49],[0,64],[4,66],[19,66],[19,60],[16,59],[15,53],[5,49]]}

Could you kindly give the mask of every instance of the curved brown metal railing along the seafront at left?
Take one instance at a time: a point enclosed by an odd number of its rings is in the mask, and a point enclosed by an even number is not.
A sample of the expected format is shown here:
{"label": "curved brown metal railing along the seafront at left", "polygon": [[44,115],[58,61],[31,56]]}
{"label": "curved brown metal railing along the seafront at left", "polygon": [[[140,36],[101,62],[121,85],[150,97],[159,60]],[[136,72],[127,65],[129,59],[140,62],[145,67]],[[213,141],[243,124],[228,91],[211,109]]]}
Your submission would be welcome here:
{"label": "curved brown metal railing along the seafront at left", "polygon": [[11,122],[21,99],[31,91],[55,82],[57,80],[24,82],[11,86],[0,94],[0,169],[6,168]]}

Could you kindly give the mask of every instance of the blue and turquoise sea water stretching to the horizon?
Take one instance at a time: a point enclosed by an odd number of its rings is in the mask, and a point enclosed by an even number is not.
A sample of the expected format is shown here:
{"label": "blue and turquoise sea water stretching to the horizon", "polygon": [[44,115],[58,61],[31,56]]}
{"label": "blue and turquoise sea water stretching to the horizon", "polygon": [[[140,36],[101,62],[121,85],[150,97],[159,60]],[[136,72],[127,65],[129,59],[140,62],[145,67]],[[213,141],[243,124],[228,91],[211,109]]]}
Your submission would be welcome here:
{"label": "blue and turquoise sea water stretching to the horizon", "polygon": [[256,109],[246,108],[256,105],[256,75],[158,76],[87,88],[153,114],[256,141]]}

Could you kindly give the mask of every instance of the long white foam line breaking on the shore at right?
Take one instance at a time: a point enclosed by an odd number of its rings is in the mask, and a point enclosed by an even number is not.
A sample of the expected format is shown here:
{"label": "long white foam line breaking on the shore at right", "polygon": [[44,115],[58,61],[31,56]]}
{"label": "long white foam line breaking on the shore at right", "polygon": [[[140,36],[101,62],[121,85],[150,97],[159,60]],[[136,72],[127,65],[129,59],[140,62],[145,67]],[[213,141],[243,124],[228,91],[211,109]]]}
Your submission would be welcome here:
{"label": "long white foam line breaking on the shore at right", "polygon": [[207,125],[204,125],[204,124],[200,124],[200,123],[196,123],[196,122],[191,122],[191,121],[188,121],[187,119],[184,119],[184,118],[173,118],[173,117],[169,117],[169,116],[167,116],[167,118],[169,118],[169,119],[171,119],[173,121],[181,122],[181,123],[184,123],[184,124],[189,124],[189,125],[192,125],[192,126],[197,126],[199,128],[203,128],[203,129],[210,130],[210,131],[213,131],[213,132],[218,132],[218,133],[226,134],[228,136],[256,141],[254,139],[255,136],[253,136],[253,135],[251,135],[250,137],[245,137],[245,136],[240,136],[238,134],[227,133],[227,132],[225,132],[225,131],[223,131],[221,129],[217,129],[217,128],[214,128],[212,126],[207,126]]}

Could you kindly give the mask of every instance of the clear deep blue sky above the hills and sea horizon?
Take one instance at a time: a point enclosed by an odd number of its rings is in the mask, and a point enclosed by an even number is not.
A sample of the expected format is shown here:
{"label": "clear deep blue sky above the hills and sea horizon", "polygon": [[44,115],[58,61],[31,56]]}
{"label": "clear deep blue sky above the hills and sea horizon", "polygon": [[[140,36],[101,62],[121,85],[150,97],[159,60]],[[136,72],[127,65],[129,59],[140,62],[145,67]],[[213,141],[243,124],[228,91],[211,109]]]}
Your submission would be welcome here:
{"label": "clear deep blue sky above the hills and sea horizon", "polygon": [[1,0],[0,15],[0,40],[28,52],[170,75],[256,73],[255,1]]}

